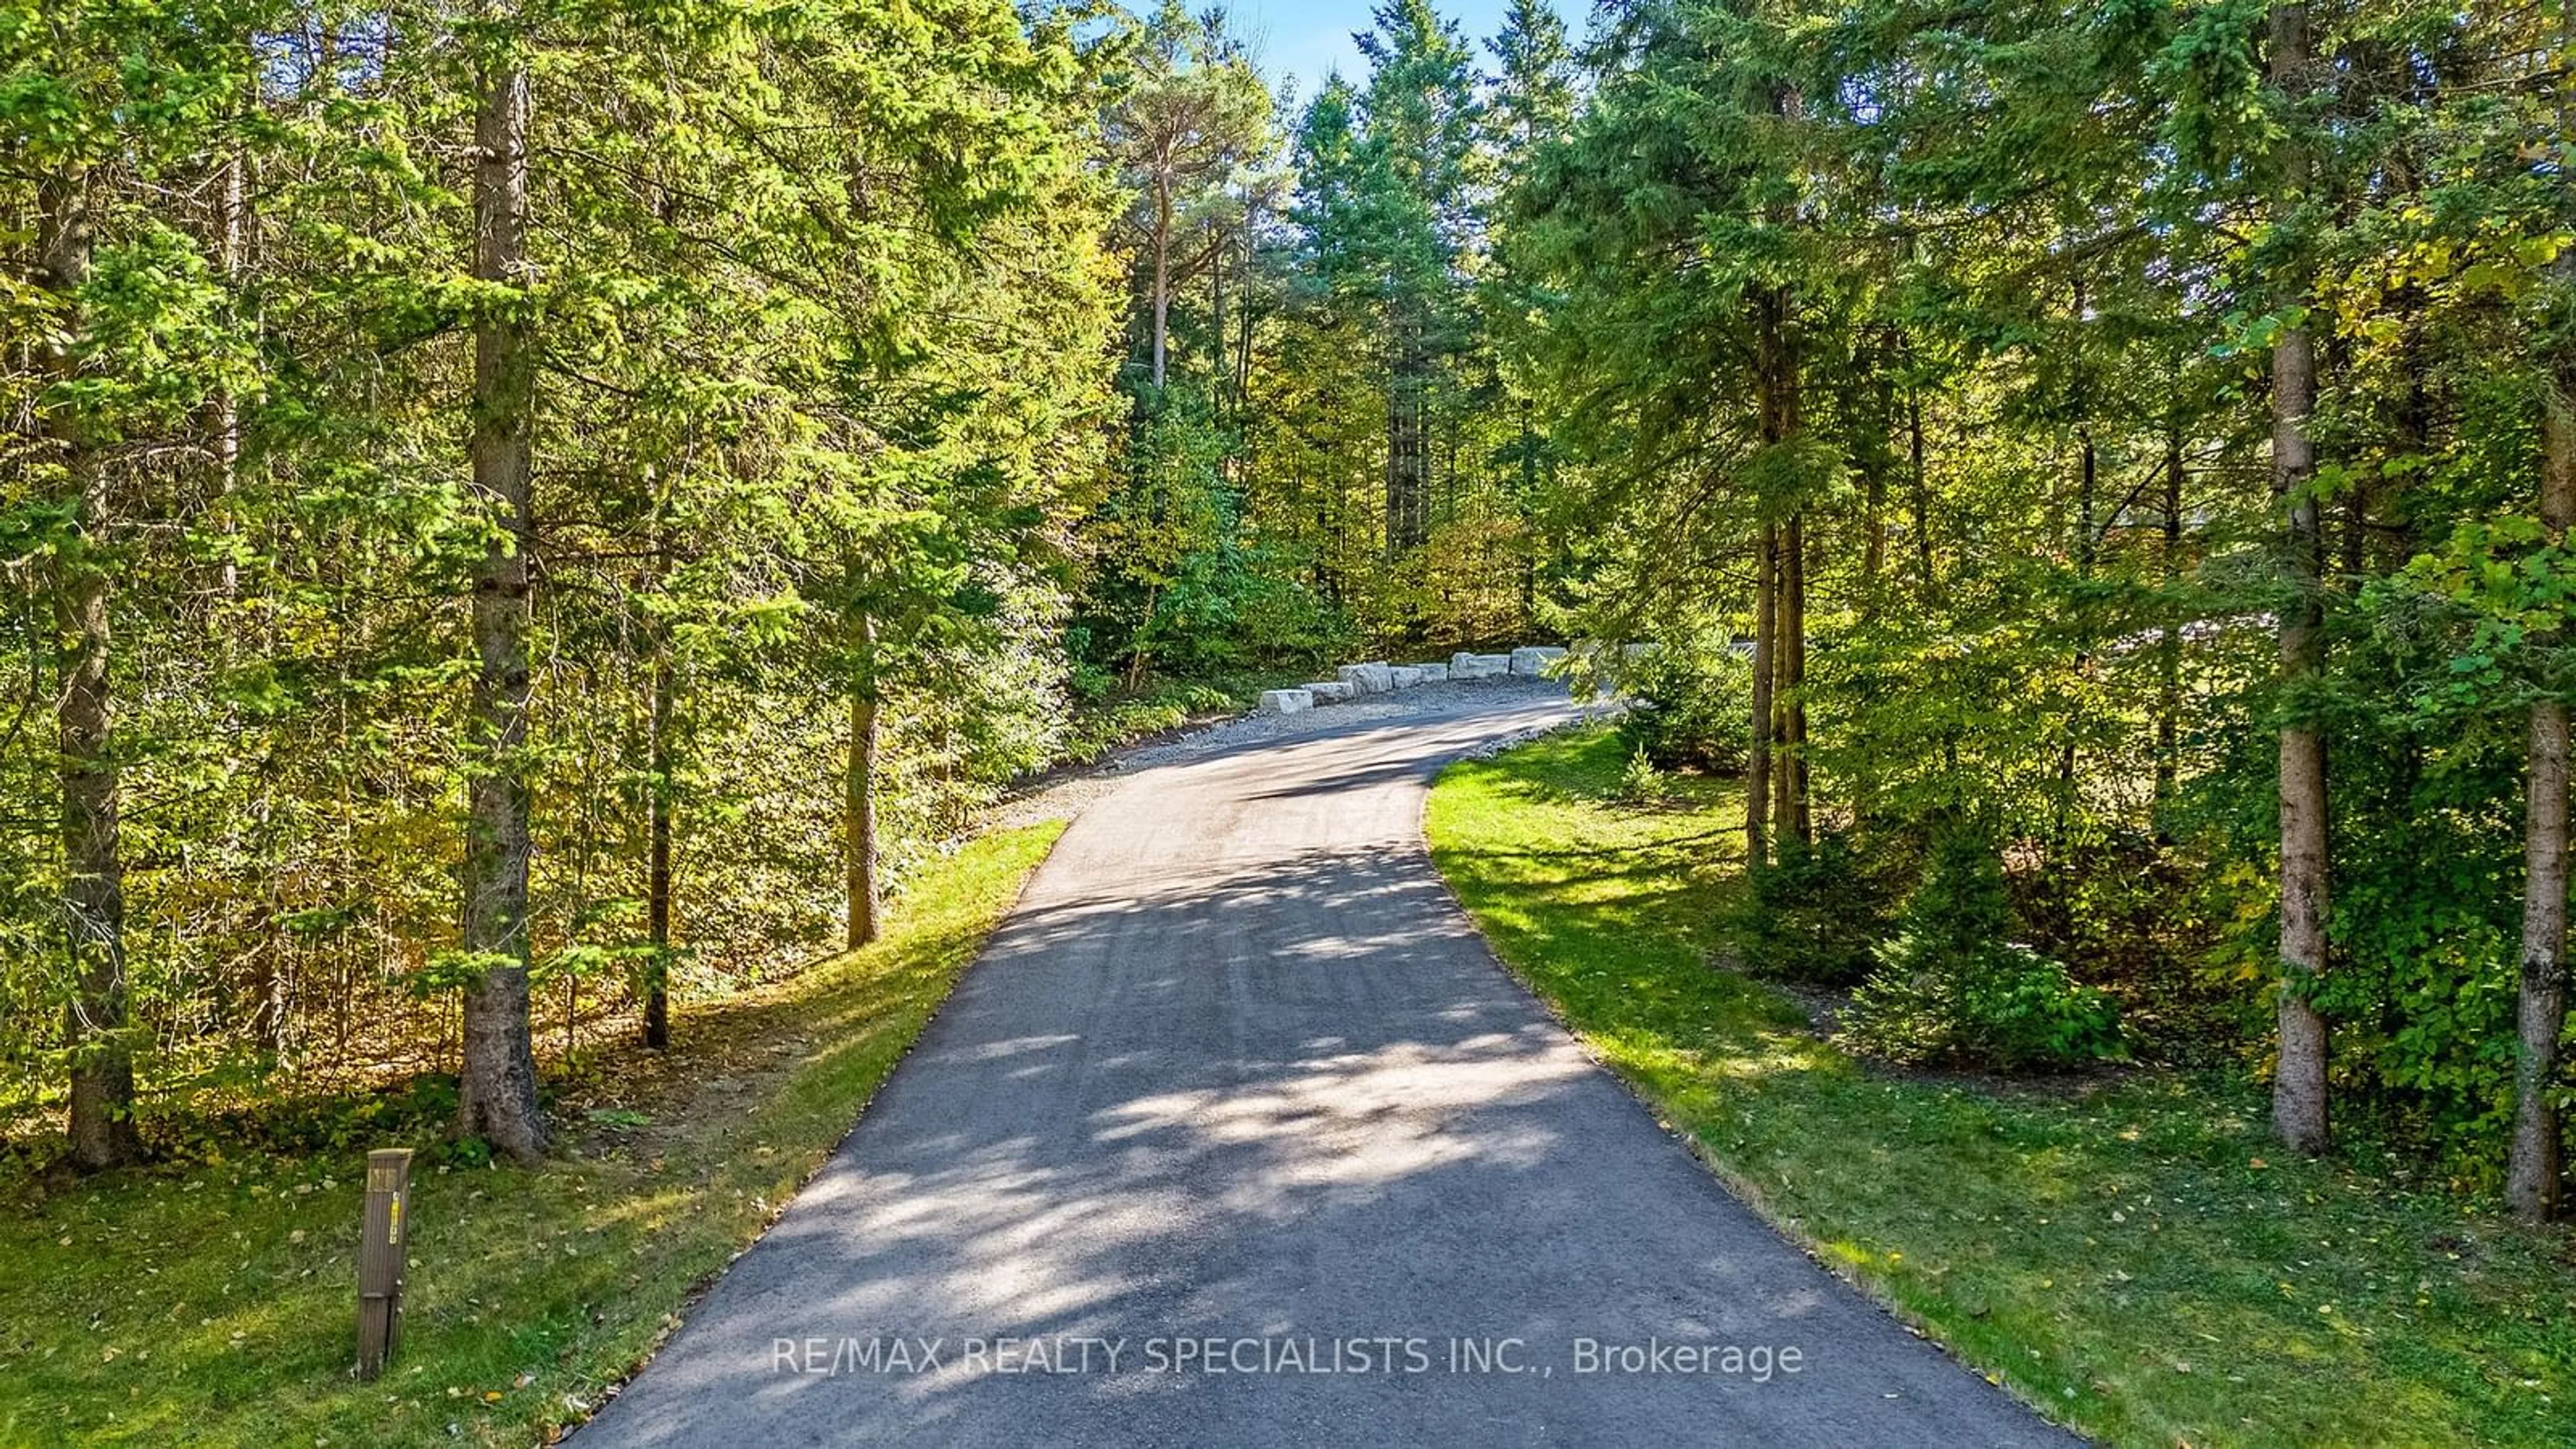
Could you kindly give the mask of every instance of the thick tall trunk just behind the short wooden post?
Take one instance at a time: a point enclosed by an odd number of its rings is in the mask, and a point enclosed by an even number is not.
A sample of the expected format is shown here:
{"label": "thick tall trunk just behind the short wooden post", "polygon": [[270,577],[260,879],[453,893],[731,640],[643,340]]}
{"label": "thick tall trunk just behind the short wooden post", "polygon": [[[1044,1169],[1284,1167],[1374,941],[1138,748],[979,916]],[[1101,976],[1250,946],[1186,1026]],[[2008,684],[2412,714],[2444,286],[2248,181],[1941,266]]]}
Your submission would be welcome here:
{"label": "thick tall trunk just behind the short wooden post", "polygon": [[[526,286],[528,72],[484,70],[474,116],[474,276]],[[474,717],[464,859],[464,993],[459,1129],[518,1163],[546,1152],[528,1042],[528,552],[536,544],[531,433],[536,345],[518,302],[474,322],[474,490],[500,526],[474,570]]]}

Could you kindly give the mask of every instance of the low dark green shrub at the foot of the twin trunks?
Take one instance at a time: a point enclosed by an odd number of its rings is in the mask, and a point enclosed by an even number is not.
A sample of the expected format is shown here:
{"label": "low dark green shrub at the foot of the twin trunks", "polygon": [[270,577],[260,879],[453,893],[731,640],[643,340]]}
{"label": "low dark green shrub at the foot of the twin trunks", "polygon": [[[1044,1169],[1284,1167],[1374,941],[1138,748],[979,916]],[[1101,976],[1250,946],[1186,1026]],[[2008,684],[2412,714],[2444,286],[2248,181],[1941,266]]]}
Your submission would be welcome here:
{"label": "low dark green shrub at the foot of the twin trunks", "polygon": [[1870,975],[1909,859],[1901,841],[1860,843],[1842,830],[1826,830],[1816,843],[1780,841],[1780,859],[1752,871],[1749,964],[1819,985],[1852,985]]}

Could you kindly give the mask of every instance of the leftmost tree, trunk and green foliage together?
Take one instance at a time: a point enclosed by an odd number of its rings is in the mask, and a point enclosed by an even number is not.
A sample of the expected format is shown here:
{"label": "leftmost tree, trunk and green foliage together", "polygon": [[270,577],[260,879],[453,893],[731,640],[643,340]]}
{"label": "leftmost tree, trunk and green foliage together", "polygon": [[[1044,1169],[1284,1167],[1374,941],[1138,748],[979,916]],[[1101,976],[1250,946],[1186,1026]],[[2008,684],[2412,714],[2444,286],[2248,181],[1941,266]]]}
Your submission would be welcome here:
{"label": "leftmost tree, trunk and green foliage together", "polygon": [[[134,523],[157,508],[152,454],[193,443],[193,418],[252,384],[222,278],[191,248],[185,217],[157,214],[149,196],[201,150],[229,144],[247,26],[250,13],[229,5],[64,5],[0,39],[13,75],[0,124],[28,178],[31,240],[23,289],[0,312],[23,340],[10,358],[21,423],[0,449],[15,464],[0,529],[13,557],[41,567],[26,657],[54,676],[52,810],[13,815],[57,822],[59,853],[41,871],[59,882],[54,928],[36,959],[64,967],[70,1142],[88,1168],[142,1152],[126,763],[152,722],[121,681],[149,668],[137,655],[160,634],[129,627],[170,611],[139,593],[170,578],[170,559]],[[134,116],[152,124],[131,126]]]}

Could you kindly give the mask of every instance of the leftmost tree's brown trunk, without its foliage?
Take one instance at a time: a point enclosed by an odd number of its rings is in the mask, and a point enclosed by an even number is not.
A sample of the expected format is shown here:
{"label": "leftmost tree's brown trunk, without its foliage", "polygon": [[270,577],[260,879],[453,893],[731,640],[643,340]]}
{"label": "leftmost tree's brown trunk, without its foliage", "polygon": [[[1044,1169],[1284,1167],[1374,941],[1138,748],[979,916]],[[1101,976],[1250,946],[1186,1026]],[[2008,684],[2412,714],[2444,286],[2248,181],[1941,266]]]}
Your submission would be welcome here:
{"label": "leftmost tree's brown trunk, without its foliage", "polygon": [[[77,371],[70,335],[82,330],[80,289],[90,278],[90,175],[64,168],[39,183],[36,286],[62,309],[64,325],[41,345],[49,384]],[[70,400],[52,400],[39,436],[62,464],[72,536],[54,554],[54,624],[62,681],[54,730],[62,748],[62,920],[72,962],[72,1160],[113,1168],[142,1155],[134,1132],[134,1049],[126,1042],[126,895],[118,851],[118,776],[111,740],[108,683],[113,572],[100,557],[113,518],[108,480],[90,428]]]}

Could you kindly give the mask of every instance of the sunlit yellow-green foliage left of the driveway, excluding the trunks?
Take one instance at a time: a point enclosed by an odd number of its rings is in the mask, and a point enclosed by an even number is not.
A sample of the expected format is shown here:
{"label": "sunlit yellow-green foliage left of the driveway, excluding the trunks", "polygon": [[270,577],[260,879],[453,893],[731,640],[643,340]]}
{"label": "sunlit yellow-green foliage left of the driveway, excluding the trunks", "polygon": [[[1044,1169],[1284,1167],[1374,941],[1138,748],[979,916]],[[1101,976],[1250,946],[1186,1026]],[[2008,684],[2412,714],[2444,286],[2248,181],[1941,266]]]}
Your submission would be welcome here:
{"label": "sunlit yellow-green foliage left of the driveway, excluding the trunks", "polygon": [[[533,72],[531,258],[464,273],[471,34]],[[783,969],[840,900],[850,619],[889,712],[889,861],[1066,730],[1051,639],[1108,446],[1113,196],[1087,41],[1002,3],[46,5],[0,21],[0,1106],[59,1093],[49,712],[57,441],[113,559],[124,962],[147,1101],[446,1065],[464,789],[471,327],[541,351],[538,1016],[623,1029],[647,797],[683,993]],[[95,266],[31,284],[88,201]],[[75,358],[49,376],[39,338]],[[39,433],[33,428],[52,428]],[[544,1026],[544,1021],[538,1024]]]}

